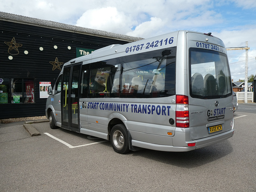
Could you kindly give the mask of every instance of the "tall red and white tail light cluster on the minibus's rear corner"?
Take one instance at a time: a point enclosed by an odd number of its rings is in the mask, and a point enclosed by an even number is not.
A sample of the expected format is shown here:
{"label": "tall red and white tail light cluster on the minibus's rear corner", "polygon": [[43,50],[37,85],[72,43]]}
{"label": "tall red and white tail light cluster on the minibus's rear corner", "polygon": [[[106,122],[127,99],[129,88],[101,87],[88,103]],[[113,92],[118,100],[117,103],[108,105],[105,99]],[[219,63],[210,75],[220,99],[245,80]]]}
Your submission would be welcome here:
{"label": "tall red and white tail light cluster on the minibus's rear corner", "polygon": [[189,127],[188,96],[176,95],[176,127]]}

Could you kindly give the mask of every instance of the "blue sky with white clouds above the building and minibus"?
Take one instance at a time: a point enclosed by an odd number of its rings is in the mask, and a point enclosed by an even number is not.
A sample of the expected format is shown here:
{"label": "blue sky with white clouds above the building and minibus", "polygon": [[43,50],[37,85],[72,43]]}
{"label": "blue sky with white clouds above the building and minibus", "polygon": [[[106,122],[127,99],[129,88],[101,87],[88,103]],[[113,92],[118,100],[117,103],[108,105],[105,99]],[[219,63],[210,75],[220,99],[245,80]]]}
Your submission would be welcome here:
{"label": "blue sky with white clouds above the building and minibus", "polygon": [[[149,38],[176,30],[211,32],[226,48],[248,41],[256,75],[255,0],[0,0],[0,11]],[[232,79],[245,79],[245,50],[228,50]]]}

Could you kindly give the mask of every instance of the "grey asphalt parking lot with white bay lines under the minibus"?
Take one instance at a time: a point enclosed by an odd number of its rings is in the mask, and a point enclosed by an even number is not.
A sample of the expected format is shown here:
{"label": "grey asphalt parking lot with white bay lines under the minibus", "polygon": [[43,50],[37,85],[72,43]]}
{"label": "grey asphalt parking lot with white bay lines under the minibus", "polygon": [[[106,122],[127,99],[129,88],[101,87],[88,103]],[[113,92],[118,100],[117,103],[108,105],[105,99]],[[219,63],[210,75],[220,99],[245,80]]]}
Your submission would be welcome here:
{"label": "grey asphalt parking lot with white bay lines under the minibus", "polygon": [[190,152],[122,155],[110,142],[48,122],[0,124],[0,191],[256,191],[255,114],[236,112],[228,140]]}

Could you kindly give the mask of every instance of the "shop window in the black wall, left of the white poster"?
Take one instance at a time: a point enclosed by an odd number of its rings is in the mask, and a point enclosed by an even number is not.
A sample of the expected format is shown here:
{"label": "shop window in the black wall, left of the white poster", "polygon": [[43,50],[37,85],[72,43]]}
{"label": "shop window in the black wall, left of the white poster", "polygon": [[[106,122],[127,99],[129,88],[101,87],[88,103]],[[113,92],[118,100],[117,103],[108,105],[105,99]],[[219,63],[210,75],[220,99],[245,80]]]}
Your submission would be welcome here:
{"label": "shop window in the black wall, left of the white poster", "polygon": [[0,104],[34,103],[34,79],[0,78]]}

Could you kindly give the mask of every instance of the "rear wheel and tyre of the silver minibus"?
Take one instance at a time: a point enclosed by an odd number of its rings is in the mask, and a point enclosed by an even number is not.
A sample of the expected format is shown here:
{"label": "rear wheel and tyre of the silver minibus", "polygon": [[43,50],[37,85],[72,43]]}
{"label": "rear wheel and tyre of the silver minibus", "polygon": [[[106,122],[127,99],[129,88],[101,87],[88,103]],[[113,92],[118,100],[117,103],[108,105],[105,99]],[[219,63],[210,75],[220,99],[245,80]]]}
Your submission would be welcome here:
{"label": "rear wheel and tyre of the silver minibus", "polygon": [[125,154],[129,152],[128,135],[123,124],[115,125],[110,132],[110,142],[115,152]]}

